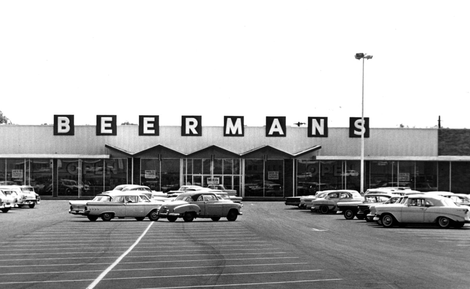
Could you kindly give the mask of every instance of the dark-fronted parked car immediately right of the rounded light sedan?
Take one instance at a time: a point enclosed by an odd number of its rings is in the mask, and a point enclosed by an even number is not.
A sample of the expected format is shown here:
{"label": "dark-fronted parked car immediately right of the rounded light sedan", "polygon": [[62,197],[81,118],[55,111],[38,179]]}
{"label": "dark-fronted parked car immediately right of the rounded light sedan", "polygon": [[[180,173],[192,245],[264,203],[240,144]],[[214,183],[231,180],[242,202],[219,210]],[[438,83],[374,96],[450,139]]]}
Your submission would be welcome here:
{"label": "dark-fronted parked car immediately right of the rounded light sedan", "polygon": [[337,203],[338,211],[343,212],[346,220],[352,220],[354,217],[362,220],[369,212],[369,206],[382,204],[392,197],[399,197],[390,192],[382,192],[364,195],[360,201],[340,202]]}

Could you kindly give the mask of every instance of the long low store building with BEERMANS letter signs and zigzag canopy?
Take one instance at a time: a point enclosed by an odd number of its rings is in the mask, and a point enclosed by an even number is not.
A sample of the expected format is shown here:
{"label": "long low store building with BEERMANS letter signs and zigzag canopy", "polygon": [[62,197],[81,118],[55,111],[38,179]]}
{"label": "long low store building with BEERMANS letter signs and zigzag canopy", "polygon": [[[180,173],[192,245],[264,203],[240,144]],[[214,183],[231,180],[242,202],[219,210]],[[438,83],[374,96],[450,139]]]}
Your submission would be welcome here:
{"label": "long low store building with BEERMANS letter signs and zigzag canopy", "polygon": [[225,116],[203,126],[202,116],[181,116],[180,126],[159,126],[157,115],[117,125],[97,115],[96,125],[0,125],[0,184],[34,186],[42,197],[90,198],[119,184],[176,190],[183,184],[224,184],[239,196],[283,198],[316,190],[360,190],[364,132],[364,188],[387,185],[470,193],[468,129],[369,129],[351,117],[329,128],[327,117],[288,126],[267,116],[263,127]]}

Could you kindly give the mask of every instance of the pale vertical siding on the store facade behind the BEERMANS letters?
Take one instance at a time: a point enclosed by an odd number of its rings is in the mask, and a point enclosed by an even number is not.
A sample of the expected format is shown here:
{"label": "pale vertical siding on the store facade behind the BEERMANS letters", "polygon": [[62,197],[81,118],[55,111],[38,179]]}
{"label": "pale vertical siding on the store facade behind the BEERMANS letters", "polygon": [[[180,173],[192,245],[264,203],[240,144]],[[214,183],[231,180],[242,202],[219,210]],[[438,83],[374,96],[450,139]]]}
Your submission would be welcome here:
{"label": "pale vertical siding on the store facade behind the BEERMANS letters", "polygon": [[[329,128],[329,137],[307,137],[307,128],[288,127],[287,137],[265,137],[265,127],[245,127],[244,137],[224,137],[223,127],[203,127],[202,137],[182,137],[180,126],[160,127],[160,136],[139,136],[138,126],[118,126],[117,136],[96,136],[95,126],[76,126],[74,136],[54,136],[52,125],[0,126],[0,154],[106,154],[105,144],[129,152],[154,145],[190,153],[218,145],[243,153],[270,145],[295,153],[321,145],[321,156],[358,156],[360,138],[348,128]],[[366,156],[437,156],[438,129],[371,129],[365,139]]]}

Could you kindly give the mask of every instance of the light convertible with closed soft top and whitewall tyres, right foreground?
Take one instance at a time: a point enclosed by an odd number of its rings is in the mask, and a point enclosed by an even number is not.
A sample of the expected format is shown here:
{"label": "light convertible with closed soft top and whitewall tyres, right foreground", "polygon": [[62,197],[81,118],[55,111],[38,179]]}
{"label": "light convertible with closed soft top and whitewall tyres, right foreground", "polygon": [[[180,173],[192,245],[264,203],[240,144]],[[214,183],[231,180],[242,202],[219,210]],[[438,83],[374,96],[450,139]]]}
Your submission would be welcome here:
{"label": "light convertible with closed soft top and whitewall tyres, right foreground", "polygon": [[390,228],[406,224],[436,224],[440,228],[461,228],[470,223],[467,206],[456,205],[450,198],[431,194],[408,195],[404,203],[376,206],[374,221]]}

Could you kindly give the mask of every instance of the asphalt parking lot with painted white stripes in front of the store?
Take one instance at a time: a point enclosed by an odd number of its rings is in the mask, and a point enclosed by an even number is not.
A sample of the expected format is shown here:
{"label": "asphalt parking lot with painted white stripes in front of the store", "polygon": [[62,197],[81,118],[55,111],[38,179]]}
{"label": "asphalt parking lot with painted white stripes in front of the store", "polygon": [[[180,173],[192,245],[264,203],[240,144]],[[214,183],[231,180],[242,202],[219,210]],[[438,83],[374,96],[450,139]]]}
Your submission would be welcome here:
{"label": "asphalt parking lot with painted white stripes in front of the store", "polygon": [[[386,229],[281,202],[237,221],[90,222],[45,200],[0,214],[0,288],[469,288],[470,226]],[[27,223],[28,226],[24,226]],[[363,238],[361,236],[367,236]]]}

